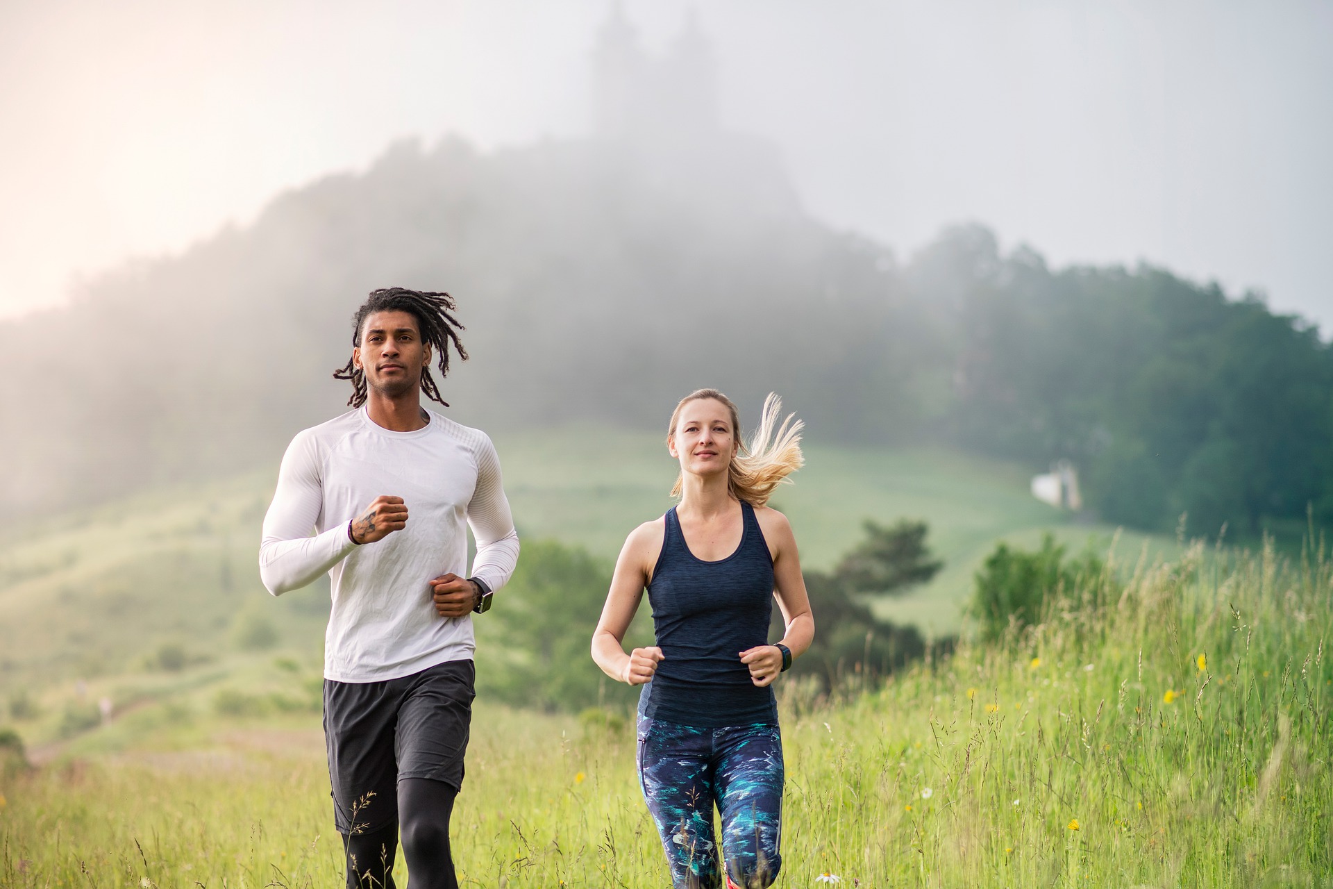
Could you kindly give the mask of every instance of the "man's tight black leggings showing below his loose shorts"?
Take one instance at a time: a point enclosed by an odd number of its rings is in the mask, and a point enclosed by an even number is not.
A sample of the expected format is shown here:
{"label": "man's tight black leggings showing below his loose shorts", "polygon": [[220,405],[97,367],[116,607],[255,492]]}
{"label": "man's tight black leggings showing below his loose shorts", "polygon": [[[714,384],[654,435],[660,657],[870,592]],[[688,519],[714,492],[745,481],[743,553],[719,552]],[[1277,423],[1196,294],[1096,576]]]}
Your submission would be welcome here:
{"label": "man's tight black leggings showing below his loose shorts", "polygon": [[403,830],[408,889],[459,889],[449,852],[449,816],[456,790],[444,781],[399,781],[399,821],[379,830],[343,836],[348,889],[396,889],[393,858]]}

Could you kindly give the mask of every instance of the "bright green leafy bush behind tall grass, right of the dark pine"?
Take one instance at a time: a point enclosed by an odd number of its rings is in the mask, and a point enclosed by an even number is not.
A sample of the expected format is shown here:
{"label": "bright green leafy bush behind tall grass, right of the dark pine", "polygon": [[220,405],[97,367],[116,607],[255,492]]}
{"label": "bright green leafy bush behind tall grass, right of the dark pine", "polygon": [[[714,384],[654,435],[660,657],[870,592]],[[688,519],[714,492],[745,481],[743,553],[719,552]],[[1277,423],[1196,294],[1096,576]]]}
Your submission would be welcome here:
{"label": "bright green leafy bush behind tall grass, right of the dark pine", "polygon": [[1105,564],[1090,552],[1065,561],[1065,546],[1049,533],[1036,552],[998,544],[974,577],[972,614],[985,640],[996,640],[1013,626],[1033,626],[1042,620],[1053,596],[1105,598],[1109,578]]}

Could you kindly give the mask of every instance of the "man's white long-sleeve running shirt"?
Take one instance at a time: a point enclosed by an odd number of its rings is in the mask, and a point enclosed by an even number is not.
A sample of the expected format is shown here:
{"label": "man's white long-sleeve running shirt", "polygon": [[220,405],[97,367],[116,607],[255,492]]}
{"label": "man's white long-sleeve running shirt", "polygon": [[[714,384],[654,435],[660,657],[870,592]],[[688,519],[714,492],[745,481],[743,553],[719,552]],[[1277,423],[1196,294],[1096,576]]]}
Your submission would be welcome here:
{"label": "man's white long-sleeve running shirt", "polygon": [[[377,682],[471,658],[472,614],[440,617],[429,581],[452,572],[499,590],[519,560],[491,439],[429,416],[421,429],[393,432],[365,408],[349,411],[300,432],[283,457],[264,517],[260,577],[275,596],[324,572],[332,577],[325,678]],[[407,528],[352,542],[348,522],[381,494],[403,497]],[[471,573],[464,522],[477,541]]]}

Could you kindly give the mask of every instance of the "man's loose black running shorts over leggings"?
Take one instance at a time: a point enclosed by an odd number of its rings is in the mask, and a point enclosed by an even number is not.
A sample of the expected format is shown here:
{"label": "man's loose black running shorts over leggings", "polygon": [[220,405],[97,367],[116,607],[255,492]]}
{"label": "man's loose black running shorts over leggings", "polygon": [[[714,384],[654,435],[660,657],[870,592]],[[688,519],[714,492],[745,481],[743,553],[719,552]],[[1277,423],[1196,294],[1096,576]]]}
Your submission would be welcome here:
{"label": "man's loose black running shorts over leggings", "polygon": [[324,741],[340,833],[395,824],[401,778],[463,788],[476,670],[445,661],[384,682],[324,680]]}

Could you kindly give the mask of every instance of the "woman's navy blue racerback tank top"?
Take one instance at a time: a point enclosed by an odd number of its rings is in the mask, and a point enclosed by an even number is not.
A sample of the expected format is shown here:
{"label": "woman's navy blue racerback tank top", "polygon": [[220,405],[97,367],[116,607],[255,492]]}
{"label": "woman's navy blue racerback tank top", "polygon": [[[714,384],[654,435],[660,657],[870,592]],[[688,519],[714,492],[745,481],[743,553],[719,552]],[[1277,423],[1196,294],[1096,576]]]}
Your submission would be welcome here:
{"label": "woman's navy blue racerback tank top", "polygon": [[663,660],[639,694],[639,712],[696,728],[777,724],[772,688],[758,688],[740,653],[768,644],[773,557],[754,508],[741,501],[741,544],[726,558],[689,552],[676,508],[648,584]]}

